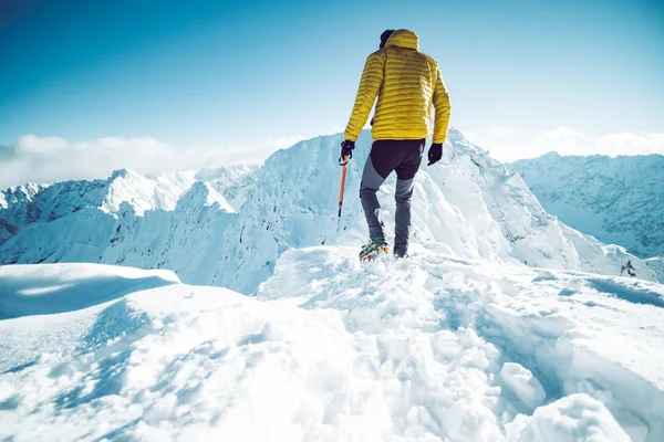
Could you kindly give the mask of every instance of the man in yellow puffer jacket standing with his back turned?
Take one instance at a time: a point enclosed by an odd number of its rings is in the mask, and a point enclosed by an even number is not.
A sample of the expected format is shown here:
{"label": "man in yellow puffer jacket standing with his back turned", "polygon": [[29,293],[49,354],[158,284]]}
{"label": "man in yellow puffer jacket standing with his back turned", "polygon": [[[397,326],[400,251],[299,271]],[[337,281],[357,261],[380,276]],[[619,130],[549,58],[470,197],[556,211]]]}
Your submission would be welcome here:
{"label": "man in yellow puffer jacket standing with his back turned", "polygon": [[396,213],[394,254],[406,256],[411,233],[411,199],[414,179],[430,134],[430,109],[435,107],[433,144],[428,166],[443,157],[450,104],[438,64],[419,52],[417,35],[408,30],[385,31],[381,49],[366,59],[353,112],[341,144],[342,157],[351,157],[374,102],[371,148],[360,185],[360,199],[369,224],[369,243],[360,252],[361,260],[373,260],[390,250],[376,191],[396,171]]}

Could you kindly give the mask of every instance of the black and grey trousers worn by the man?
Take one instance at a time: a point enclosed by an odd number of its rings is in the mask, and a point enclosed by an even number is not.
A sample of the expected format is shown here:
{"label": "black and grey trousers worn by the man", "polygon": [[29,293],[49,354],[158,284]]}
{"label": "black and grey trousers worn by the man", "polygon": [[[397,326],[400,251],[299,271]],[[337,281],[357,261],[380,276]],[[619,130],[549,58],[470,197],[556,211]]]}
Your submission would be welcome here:
{"label": "black and grey trousers worn by the man", "polygon": [[415,186],[415,175],[424,154],[424,139],[384,139],[374,141],[364,165],[360,199],[369,224],[372,240],[385,238],[383,223],[378,219],[381,203],[376,191],[385,179],[396,171],[396,213],[394,252],[405,254],[411,235],[411,199]]}

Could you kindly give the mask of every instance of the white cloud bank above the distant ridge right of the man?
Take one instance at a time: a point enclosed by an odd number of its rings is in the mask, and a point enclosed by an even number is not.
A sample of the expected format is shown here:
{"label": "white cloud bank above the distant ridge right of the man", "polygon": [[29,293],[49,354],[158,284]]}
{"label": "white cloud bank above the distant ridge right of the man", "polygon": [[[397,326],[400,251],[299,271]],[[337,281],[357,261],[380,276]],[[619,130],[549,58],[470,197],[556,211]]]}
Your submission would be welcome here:
{"label": "white cloud bank above the distant ridge right of the man", "polygon": [[550,151],[560,155],[664,155],[662,133],[620,133],[591,138],[570,127],[548,130],[530,139],[517,137],[481,137],[478,144],[501,161],[535,158]]}

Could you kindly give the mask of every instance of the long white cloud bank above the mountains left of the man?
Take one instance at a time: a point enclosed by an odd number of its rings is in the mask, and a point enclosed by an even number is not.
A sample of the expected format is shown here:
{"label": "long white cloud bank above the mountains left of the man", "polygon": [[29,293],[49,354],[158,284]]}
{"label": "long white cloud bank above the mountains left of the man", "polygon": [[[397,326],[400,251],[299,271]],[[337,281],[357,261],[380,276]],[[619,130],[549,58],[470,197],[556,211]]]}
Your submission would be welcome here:
{"label": "long white cloud bank above the mountains left of the man", "polygon": [[278,148],[303,137],[273,138],[255,147],[175,146],[155,138],[105,137],[71,143],[60,137],[27,135],[0,156],[0,189],[30,181],[53,182],[110,176],[115,169],[141,173],[196,170],[237,164],[260,164]]}

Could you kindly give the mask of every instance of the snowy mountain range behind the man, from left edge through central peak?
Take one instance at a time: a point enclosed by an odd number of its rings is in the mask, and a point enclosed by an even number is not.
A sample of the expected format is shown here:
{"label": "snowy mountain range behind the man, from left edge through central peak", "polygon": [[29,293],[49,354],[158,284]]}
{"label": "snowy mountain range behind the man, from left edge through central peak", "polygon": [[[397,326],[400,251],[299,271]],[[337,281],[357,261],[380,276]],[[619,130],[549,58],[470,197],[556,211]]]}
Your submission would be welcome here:
{"label": "snowy mountain range behind the man, from left edge through central peak", "polygon": [[[417,178],[415,242],[437,241],[459,259],[654,281],[653,271],[624,249],[548,214],[518,175],[458,130],[448,139],[440,165],[423,167]],[[253,293],[291,248],[365,241],[357,189],[371,137],[363,133],[356,144],[338,224],[341,140],[340,134],[299,143],[261,168],[152,178],[124,170],[108,180],[52,185],[0,210],[0,223],[11,225],[0,238],[0,263],[168,269],[187,283]],[[390,232],[393,192],[394,177],[380,196]]]}

